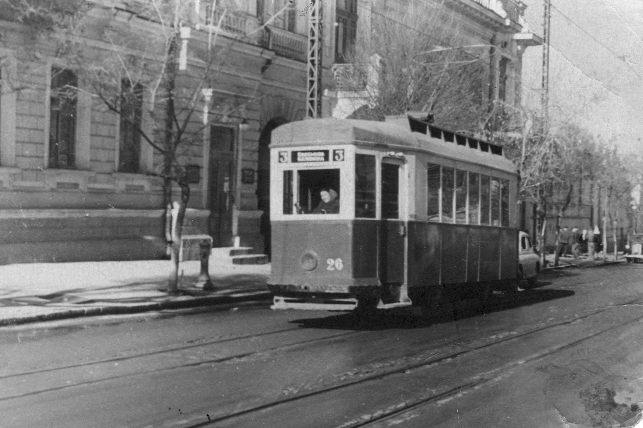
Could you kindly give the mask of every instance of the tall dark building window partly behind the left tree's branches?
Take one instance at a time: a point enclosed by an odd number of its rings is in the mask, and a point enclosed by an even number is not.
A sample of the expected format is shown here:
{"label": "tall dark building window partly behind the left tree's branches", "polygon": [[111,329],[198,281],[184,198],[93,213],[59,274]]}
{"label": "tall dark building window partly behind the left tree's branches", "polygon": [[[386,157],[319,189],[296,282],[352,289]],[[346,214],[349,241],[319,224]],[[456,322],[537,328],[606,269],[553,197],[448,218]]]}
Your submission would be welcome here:
{"label": "tall dark building window partly behind the left tree's branches", "polygon": [[132,86],[132,82],[123,80],[120,98],[119,172],[140,172],[142,113],[143,87],[140,84]]}

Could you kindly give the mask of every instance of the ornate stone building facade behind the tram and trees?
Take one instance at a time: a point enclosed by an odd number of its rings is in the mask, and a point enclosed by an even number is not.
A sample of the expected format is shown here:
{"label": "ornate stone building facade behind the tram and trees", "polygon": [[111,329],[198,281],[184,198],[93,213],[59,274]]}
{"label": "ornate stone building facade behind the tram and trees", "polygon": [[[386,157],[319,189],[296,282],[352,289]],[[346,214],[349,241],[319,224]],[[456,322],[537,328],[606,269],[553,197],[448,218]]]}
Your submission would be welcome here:
{"label": "ornate stone building facade behind the tram and trees", "polygon": [[[33,22],[0,8],[0,263],[165,256],[158,177],[163,159],[131,120],[123,120],[124,113],[110,111],[84,90],[83,64],[60,51],[60,40],[80,44],[89,53],[83,60],[94,64],[108,57],[114,40],[159,31],[162,22],[141,12],[154,1],[160,0],[80,2],[88,4],[83,30],[71,39],[60,28],[35,35]],[[273,129],[306,116],[311,2],[176,1],[192,8],[182,24],[191,31],[181,39],[188,70],[204,67],[197,54],[212,44],[213,35],[225,59],[193,103],[194,125],[177,157],[190,175],[187,230],[208,233],[215,246],[268,251],[268,147]],[[524,5],[444,3],[466,22],[472,43],[495,38],[499,55],[489,72],[491,96],[520,102],[520,49],[537,43],[521,21]],[[338,90],[334,76],[357,38],[368,33],[375,12],[385,15],[405,4],[321,1],[324,116],[337,115],[338,105],[346,105],[343,98],[355,97]],[[145,46],[129,53],[154,62],[144,54]],[[76,88],[73,98],[61,95],[66,87]],[[143,108],[152,102],[146,94],[141,88],[140,101],[129,111],[142,130],[153,120]]]}

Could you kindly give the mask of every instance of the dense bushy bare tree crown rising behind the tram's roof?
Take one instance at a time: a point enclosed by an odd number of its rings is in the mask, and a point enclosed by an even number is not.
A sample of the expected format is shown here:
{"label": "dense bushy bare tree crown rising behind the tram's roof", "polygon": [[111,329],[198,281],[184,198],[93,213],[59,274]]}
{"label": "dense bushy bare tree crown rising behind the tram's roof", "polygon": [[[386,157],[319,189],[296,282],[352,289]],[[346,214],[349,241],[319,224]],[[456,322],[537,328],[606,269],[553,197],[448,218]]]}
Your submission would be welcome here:
{"label": "dense bushy bare tree crown rising behind the tram's roof", "polygon": [[460,132],[487,121],[489,44],[467,40],[457,15],[441,3],[410,1],[399,13],[373,14],[370,37],[358,37],[338,67],[340,89],[358,94],[352,117],[383,120],[421,111]]}

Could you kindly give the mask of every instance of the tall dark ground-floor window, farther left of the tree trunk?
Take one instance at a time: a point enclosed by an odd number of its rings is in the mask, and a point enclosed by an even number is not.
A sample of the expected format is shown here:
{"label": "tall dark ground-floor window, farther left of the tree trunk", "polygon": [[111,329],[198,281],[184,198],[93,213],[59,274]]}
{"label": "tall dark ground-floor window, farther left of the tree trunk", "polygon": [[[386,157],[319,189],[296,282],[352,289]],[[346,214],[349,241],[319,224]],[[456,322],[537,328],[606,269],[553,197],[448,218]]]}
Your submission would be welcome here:
{"label": "tall dark ground-floor window, farther left of the tree trunk", "polygon": [[77,77],[69,69],[51,69],[49,167],[75,165]]}

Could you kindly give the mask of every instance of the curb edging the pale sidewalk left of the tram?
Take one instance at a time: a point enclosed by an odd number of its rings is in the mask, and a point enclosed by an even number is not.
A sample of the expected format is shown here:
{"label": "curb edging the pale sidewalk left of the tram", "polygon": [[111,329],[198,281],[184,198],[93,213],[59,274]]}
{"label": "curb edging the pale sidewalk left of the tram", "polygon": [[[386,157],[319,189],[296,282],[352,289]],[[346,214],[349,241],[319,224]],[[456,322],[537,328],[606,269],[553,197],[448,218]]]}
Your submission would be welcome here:
{"label": "curb edging the pale sidewalk left of the tram", "polygon": [[272,294],[268,291],[257,291],[243,294],[242,296],[212,296],[203,298],[194,298],[180,301],[163,301],[155,303],[143,303],[135,306],[101,306],[91,308],[71,309],[64,312],[51,312],[51,314],[42,314],[35,316],[16,317],[0,319],[0,326],[21,325],[28,323],[39,323],[42,321],[55,321],[59,319],[70,319],[100,315],[123,315],[136,314],[138,312],[151,312],[162,309],[183,309],[200,306],[219,306],[231,305],[244,301],[269,301]]}

